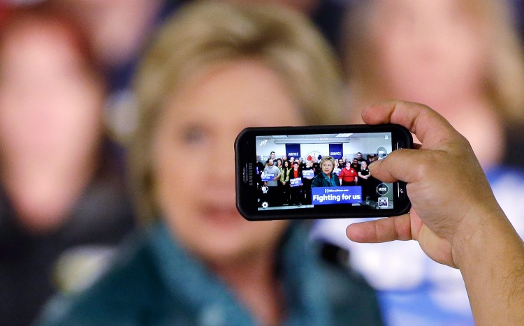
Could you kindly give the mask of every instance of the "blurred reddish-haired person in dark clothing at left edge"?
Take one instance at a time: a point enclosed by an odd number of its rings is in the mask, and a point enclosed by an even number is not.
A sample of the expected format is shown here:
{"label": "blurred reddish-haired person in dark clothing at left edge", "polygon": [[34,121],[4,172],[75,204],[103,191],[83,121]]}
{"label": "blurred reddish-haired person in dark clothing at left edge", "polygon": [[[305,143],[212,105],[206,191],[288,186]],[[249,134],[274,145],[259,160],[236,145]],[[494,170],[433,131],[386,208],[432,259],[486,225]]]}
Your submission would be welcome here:
{"label": "blurred reddish-haired person in dark clothing at left edge", "polygon": [[28,325],[56,290],[101,272],[133,226],[82,30],[47,5],[0,29],[0,323]]}

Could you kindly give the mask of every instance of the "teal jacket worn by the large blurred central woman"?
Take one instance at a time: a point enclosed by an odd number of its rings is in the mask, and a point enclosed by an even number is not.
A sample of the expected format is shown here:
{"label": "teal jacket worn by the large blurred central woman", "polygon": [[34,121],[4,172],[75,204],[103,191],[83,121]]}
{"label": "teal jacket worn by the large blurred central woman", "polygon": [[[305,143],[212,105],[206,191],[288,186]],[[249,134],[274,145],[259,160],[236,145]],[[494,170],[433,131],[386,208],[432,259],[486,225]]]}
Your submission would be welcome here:
{"label": "teal jacket worn by the large blurred central woman", "polygon": [[[374,291],[358,275],[320,257],[307,229],[292,224],[278,273],[284,325],[381,325]],[[257,325],[201,261],[159,223],[129,241],[114,265],[78,295],[54,298],[37,325]]]}

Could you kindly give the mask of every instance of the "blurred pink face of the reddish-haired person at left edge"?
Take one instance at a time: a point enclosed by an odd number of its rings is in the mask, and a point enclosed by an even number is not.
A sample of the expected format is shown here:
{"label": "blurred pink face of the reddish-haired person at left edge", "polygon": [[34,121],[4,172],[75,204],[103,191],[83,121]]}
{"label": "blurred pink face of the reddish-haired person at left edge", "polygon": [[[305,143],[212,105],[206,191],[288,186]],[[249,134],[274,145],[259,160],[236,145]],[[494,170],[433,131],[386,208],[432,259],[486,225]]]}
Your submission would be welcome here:
{"label": "blurred pink face of the reddish-haired person at left edge", "polygon": [[93,155],[101,136],[103,87],[73,44],[65,27],[44,22],[27,22],[6,34],[0,52],[4,166],[63,168]]}

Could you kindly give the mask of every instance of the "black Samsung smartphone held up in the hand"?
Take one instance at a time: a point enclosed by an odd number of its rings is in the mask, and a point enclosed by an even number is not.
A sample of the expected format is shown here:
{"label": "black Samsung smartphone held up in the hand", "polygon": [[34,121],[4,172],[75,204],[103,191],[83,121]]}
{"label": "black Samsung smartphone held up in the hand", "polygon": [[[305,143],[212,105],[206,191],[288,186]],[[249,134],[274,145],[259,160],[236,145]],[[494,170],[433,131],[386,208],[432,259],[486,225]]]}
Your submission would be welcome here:
{"label": "black Samsung smartphone held up in the hand", "polygon": [[395,124],[245,128],[235,140],[238,211],[249,221],[404,214],[405,183],[381,182],[367,165],[412,147]]}

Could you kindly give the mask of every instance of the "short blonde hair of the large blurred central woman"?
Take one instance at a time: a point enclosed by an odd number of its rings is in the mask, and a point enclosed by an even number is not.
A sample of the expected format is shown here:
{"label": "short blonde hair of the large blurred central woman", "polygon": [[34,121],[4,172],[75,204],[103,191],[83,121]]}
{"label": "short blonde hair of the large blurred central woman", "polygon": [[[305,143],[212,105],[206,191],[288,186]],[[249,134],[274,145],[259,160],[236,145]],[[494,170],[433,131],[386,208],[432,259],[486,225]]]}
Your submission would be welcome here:
{"label": "short blonde hair of the large blurred central woman", "polygon": [[136,75],[140,111],[129,165],[141,219],[157,215],[150,147],[164,101],[184,80],[239,59],[259,60],[282,77],[308,124],[340,118],[335,54],[303,15],[275,6],[189,3],[161,28]]}

